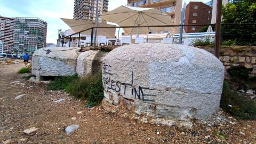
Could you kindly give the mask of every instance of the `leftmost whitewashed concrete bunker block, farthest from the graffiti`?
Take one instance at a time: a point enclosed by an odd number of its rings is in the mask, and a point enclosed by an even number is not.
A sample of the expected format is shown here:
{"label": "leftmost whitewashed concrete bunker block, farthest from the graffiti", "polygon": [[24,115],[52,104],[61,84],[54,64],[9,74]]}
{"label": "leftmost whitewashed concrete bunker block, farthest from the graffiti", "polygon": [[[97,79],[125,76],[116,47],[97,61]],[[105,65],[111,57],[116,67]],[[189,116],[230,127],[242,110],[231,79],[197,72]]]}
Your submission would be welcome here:
{"label": "leftmost whitewashed concrete bunker block, farthest from the graffiti", "polygon": [[[51,50],[46,54],[46,50]],[[76,74],[79,52],[74,48],[45,47],[37,50],[32,58],[32,74],[37,76],[67,76]]]}

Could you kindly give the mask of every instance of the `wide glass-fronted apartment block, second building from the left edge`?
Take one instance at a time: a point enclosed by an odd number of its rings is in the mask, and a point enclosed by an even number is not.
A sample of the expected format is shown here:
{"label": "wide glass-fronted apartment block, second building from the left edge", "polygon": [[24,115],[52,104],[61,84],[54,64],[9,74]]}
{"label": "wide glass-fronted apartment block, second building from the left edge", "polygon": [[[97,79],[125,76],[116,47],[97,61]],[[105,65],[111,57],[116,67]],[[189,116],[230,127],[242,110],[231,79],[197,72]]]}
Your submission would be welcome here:
{"label": "wide glass-fronted apartment block, second building from the left edge", "polygon": [[46,47],[47,22],[39,18],[15,18],[14,50],[33,53]]}

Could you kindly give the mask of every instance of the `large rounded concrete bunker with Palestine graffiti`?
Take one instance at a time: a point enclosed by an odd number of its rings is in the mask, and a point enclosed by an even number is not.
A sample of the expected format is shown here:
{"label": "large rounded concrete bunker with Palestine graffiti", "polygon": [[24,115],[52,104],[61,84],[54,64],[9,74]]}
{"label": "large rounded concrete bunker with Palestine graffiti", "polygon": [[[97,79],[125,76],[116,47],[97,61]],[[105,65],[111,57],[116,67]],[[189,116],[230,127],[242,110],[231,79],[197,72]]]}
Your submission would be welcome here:
{"label": "large rounded concrete bunker with Palestine graffiti", "polygon": [[105,100],[149,117],[189,121],[214,114],[224,67],[209,52],[186,45],[124,45],[103,61]]}

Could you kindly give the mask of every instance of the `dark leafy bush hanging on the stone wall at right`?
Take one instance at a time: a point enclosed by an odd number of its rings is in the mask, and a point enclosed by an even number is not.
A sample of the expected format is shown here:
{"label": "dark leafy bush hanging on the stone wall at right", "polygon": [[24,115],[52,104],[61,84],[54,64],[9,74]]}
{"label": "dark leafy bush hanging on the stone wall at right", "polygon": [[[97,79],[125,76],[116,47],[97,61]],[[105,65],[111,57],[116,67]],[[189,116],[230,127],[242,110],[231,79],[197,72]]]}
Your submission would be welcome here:
{"label": "dark leafy bush hanging on the stone wall at right", "polygon": [[231,81],[236,84],[237,89],[242,89],[242,86],[246,85],[250,71],[252,71],[252,69],[246,68],[245,66],[231,66],[227,70]]}

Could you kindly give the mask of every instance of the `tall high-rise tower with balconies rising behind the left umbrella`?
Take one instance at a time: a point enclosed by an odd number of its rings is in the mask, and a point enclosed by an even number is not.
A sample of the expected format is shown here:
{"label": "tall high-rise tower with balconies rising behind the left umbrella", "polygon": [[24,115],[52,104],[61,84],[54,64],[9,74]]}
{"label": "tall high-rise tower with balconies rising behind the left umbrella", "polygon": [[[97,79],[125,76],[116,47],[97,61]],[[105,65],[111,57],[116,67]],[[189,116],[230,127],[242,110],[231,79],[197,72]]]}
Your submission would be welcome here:
{"label": "tall high-rise tower with balconies rising behind the left umbrella", "polygon": [[[108,0],[98,0],[99,14],[108,11]],[[75,20],[89,20],[96,19],[97,0],[75,0],[74,4],[74,19]],[[105,22],[99,18],[99,22]]]}

